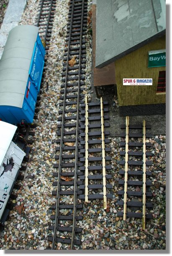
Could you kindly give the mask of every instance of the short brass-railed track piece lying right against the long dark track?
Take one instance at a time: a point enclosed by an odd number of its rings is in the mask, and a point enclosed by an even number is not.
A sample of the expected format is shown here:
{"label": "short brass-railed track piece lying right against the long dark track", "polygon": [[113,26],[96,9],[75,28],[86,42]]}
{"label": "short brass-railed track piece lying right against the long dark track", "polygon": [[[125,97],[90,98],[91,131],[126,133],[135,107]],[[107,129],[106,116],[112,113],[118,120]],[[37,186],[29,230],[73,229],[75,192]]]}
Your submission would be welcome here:
{"label": "short brass-railed track piece lying right against the long dark track", "polygon": [[[80,180],[85,180],[85,185],[80,185],[80,189],[85,189],[85,195],[81,194],[80,199],[85,199],[85,202],[91,199],[103,199],[104,209],[107,208],[107,198],[112,199],[113,196],[106,193],[106,189],[112,188],[111,184],[106,184],[106,180],[112,178],[111,174],[106,174],[107,170],[111,170],[111,157],[106,156],[110,148],[105,147],[105,144],[110,142],[105,137],[110,133],[104,131],[104,128],[109,127],[107,104],[108,102],[103,103],[102,98],[100,102],[89,103],[86,96],[85,104],[81,104],[81,107],[85,109],[81,110],[83,117],[80,127],[82,131],[80,136],[85,138],[85,141],[81,141],[81,145],[85,145],[85,148],[80,149],[80,153],[85,154],[85,157],[80,158],[80,162],[85,162],[85,166],[80,167],[80,170],[85,172],[85,175],[80,176]],[[109,161],[108,165],[106,165],[107,161]],[[89,193],[89,190],[92,193]]]}

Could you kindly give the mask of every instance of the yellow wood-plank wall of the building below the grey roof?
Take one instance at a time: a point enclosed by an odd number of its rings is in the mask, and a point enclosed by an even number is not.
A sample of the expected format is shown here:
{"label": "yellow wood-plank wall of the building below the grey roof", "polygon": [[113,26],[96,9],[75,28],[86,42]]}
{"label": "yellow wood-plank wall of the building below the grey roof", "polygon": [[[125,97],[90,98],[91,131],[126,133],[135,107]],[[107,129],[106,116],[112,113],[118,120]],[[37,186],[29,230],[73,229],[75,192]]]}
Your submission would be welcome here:
{"label": "yellow wood-plank wall of the building below the grey roof", "polygon": [[[165,36],[115,61],[119,106],[165,103],[165,93],[157,93],[159,71],[166,67],[148,68],[148,51],[165,49]],[[123,78],[153,78],[153,85],[123,85]]]}

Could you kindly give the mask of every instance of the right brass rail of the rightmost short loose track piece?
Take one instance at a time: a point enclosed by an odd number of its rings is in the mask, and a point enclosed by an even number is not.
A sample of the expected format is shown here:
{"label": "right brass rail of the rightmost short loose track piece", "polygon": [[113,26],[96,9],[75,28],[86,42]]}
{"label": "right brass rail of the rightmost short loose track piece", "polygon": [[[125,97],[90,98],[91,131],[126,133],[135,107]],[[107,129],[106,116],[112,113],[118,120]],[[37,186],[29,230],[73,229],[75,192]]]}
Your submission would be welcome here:
{"label": "right brass rail of the rightmost short loose track piece", "polygon": [[142,228],[146,225],[146,125],[143,121],[143,219]]}

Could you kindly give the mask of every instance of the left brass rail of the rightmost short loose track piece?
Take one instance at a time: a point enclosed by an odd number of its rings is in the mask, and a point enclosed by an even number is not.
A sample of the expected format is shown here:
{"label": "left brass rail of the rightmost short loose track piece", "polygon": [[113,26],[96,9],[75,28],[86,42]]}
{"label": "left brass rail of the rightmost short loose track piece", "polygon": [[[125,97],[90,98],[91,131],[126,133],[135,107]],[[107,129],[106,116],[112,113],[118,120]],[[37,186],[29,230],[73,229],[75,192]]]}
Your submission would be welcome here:
{"label": "left brass rail of the rightmost short loose track piece", "polygon": [[126,220],[126,209],[127,209],[127,179],[128,179],[128,125],[129,125],[129,117],[128,117],[128,116],[126,116],[126,154],[125,154],[125,181],[124,181],[123,220]]}

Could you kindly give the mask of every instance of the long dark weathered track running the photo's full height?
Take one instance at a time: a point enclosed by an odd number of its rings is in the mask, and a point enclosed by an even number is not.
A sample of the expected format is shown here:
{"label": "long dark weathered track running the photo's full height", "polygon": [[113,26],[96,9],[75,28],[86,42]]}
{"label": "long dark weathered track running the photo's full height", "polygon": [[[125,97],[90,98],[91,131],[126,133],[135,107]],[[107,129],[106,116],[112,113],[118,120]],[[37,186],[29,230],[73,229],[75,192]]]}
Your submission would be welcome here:
{"label": "long dark weathered track running the photo's full height", "polygon": [[[53,230],[53,236],[49,236],[51,249],[59,249],[58,244],[64,244],[65,248],[73,249],[74,245],[80,245],[81,241],[76,237],[76,232],[82,232],[80,227],[76,227],[77,221],[82,220],[79,212],[82,204],[77,203],[77,196],[82,193],[77,186],[82,184],[78,176],[82,175],[80,167],[83,163],[79,154],[80,149],[80,103],[85,94],[85,39],[87,30],[87,0],[71,0],[69,2],[69,20],[67,24],[67,38],[62,73],[62,100],[59,106],[62,110],[58,119],[56,140],[57,164],[54,165],[56,172],[53,173],[56,180],[53,182],[54,191],[52,195],[56,196],[56,203],[51,206],[53,214],[51,219],[53,225],[49,230]],[[69,60],[75,58],[71,65]],[[68,203],[64,199],[69,199]],[[67,246],[67,247],[66,247]]]}

